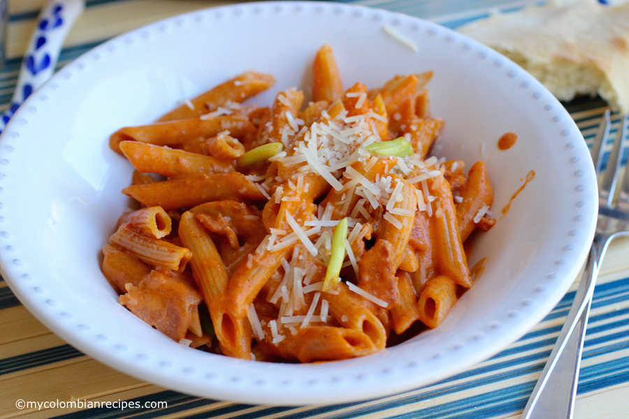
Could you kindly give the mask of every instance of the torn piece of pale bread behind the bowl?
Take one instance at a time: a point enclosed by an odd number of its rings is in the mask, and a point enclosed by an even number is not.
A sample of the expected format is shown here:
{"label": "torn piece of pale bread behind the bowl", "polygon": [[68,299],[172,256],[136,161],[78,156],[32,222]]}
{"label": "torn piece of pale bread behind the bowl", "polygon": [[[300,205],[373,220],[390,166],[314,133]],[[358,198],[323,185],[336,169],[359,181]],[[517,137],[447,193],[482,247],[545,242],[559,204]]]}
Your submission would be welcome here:
{"label": "torn piece of pale bread behind the bowl", "polygon": [[551,0],[458,31],[505,54],[562,101],[599,94],[629,112],[629,3]]}

